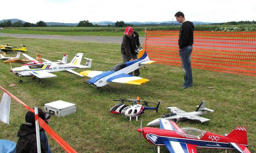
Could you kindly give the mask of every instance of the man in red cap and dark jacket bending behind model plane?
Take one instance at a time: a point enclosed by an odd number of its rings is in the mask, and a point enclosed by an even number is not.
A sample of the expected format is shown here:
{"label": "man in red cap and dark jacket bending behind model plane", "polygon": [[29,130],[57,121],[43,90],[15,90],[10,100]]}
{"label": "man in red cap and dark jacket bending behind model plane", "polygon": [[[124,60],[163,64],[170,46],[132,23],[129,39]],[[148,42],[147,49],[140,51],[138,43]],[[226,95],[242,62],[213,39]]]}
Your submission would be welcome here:
{"label": "man in red cap and dark jacket bending behind model plane", "polygon": [[[137,59],[138,53],[135,52],[137,47],[140,47],[139,34],[136,31],[133,31],[131,26],[128,26],[125,28],[123,42],[121,44],[123,62],[129,62]],[[132,75],[132,72],[129,74]],[[134,76],[140,76],[139,69],[134,71]]]}

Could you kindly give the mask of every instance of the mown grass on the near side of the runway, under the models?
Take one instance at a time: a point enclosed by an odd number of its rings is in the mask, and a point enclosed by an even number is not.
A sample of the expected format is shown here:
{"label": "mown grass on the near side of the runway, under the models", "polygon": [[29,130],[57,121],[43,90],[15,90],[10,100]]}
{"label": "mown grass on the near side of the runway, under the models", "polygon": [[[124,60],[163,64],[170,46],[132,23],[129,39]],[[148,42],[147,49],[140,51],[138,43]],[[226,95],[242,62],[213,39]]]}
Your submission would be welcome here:
{"label": "mown grass on the near side of the runway, under the models", "polygon": [[[27,54],[56,61],[63,54],[68,54],[68,62],[76,53],[84,53],[84,57],[93,59],[92,68],[76,69],[107,71],[117,63],[122,62],[120,45],[104,43],[88,43],[67,40],[19,39],[0,37],[1,44],[21,46],[26,44]],[[15,53],[8,54],[15,56]],[[85,60],[82,61],[84,64]],[[109,109],[117,104],[112,101],[118,98],[136,98],[150,102],[161,100],[158,113],[147,110],[143,116],[143,127],[148,122],[169,113],[168,106],[176,106],[184,111],[194,111],[196,105],[206,100],[206,106],[215,110],[203,116],[211,119],[207,123],[185,121],[178,125],[182,127],[199,128],[212,133],[224,135],[237,126],[247,127],[248,145],[252,153],[256,152],[256,79],[242,75],[225,74],[200,69],[193,69],[194,86],[187,90],[179,87],[183,84],[181,67],[150,64],[140,69],[140,77],[150,79],[141,86],[128,84],[110,84],[112,92],[106,87],[96,90],[84,84],[88,77],[79,77],[68,72],[55,72],[58,77],[32,81],[32,77],[24,77],[19,84],[19,77],[9,72],[10,64],[0,63],[0,85],[10,91],[30,107],[43,108],[45,103],[64,100],[75,103],[77,111],[66,117],[52,116],[50,127],[55,130],[77,152],[128,152],[155,153],[156,147],[144,138],[139,142],[140,121],[125,118],[122,115],[110,114]],[[19,67],[21,63],[13,63],[12,67]],[[16,84],[9,87],[9,84]],[[209,88],[211,87],[211,88]],[[0,91],[2,95],[3,92]],[[155,106],[151,104],[150,106]],[[17,142],[17,131],[21,123],[25,123],[26,109],[11,101],[10,125],[0,122],[0,139]],[[139,117],[139,120],[141,117]],[[64,150],[48,136],[52,152]],[[168,153],[161,147],[162,153]],[[225,153],[225,150],[197,149],[198,153]],[[235,153],[228,150],[228,153]]]}

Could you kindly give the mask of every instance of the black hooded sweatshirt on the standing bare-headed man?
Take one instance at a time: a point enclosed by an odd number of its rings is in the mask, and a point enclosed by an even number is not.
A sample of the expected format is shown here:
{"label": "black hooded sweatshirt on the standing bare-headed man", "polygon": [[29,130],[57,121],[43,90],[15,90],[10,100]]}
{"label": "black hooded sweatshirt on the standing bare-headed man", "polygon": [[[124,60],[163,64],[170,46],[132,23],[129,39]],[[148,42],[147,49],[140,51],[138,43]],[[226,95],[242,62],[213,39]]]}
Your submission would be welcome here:
{"label": "black hooded sweatshirt on the standing bare-headed man", "polygon": [[192,22],[185,21],[180,27],[179,35],[179,48],[183,49],[184,47],[194,44],[194,30],[195,27]]}

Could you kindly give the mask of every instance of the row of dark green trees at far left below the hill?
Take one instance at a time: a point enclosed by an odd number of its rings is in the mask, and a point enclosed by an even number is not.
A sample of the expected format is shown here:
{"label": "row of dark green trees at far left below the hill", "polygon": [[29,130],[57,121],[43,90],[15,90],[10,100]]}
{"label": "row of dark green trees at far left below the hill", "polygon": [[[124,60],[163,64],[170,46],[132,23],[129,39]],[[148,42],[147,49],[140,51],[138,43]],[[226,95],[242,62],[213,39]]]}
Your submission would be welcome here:
{"label": "row of dark green trees at far left below the hill", "polygon": [[44,21],[38,21],[38,22],[36,22],[36,24],[34,24],[34,23],[29,23],[29,22],[22,23],[22,21],[17,21],[17,22],[12,23],[11,20],[7,20],[7,21],[0,23],[0,27],[34,27],[34,26],[43,27],[43,26],[47,26],[47,25]]}

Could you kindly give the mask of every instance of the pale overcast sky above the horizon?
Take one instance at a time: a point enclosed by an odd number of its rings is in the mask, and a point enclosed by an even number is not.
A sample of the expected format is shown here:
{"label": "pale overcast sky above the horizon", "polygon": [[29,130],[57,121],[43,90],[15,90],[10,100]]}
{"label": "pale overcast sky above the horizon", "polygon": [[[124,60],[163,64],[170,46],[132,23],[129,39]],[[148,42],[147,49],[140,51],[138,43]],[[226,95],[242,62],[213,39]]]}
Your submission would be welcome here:
{"label": "pale overcast sky above the horizon", "polygon": [[18,18],[30,23],[176,22],[178,11],[190,21],[256,20],[255,0],[6,0],[0,10],[0,20]]}

